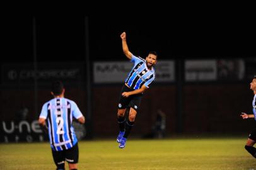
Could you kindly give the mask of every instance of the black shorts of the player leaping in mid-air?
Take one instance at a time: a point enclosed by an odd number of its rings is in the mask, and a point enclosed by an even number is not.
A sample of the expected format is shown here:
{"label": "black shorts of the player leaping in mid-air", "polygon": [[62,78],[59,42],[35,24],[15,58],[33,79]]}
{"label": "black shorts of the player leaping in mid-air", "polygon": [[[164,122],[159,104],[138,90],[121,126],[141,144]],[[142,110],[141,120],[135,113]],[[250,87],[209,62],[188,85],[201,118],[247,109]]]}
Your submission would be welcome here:
{"label": "black shorts of the player leaping in mid-air", "polygon": [[134,94],[129,96],[128,98],[125,98],[122,96],[123,92],[128,92],[128,91],[134,91],[134,89],[128,88],[127,86],[122,86],[122,90],[119,96],[119,104],[118,108],[119,109],[124,109],[124,108],[133,108],[134,110],[138,111],[139,107],[141,106],[141,99],[143,97],[143,94]]}

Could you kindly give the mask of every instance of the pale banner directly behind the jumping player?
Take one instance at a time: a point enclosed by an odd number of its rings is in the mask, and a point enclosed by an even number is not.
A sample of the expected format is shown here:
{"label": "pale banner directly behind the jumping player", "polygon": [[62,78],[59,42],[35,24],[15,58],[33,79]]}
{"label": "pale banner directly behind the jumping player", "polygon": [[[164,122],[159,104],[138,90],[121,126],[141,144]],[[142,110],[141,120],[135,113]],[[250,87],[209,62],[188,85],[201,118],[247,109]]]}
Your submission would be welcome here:
{"label": "pale banner directly behind the jumping player", "polygon": [[[94,62],[93,78],[95,83],[122,83],[133,67],[129,61],[123,62]],[[158,61],[156,64],[156,82],[175,81],[174,62],[171,60]]]}

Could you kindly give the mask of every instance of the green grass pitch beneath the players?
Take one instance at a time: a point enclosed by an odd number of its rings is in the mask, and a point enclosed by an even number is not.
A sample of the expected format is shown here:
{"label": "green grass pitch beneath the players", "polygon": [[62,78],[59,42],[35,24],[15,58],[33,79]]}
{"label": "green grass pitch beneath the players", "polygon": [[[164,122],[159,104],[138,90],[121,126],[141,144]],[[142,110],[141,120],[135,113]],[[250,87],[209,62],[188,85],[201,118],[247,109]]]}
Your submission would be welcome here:
{"label": "green grass pitch beneath the players", "polygon": [[[124,149],[118,148],[115,139],[79,141],[78,167],[79,170],[256,169],[255,159],[244,149],[246,140],[130,139]],[[0,144],[0,169],[55,169],[50,145]]]}

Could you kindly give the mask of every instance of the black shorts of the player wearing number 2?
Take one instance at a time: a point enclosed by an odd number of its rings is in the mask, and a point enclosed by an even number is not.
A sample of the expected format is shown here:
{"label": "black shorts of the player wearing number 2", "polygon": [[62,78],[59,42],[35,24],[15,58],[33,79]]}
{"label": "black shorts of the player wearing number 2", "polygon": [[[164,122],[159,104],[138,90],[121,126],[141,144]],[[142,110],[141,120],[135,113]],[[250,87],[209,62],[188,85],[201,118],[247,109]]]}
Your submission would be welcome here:
{"label": "black shorts of the player wearing number 2", "polygon": [[76,164],[78,163],[78,143],[67,150],[52,150],[52,156],[56,166],[61,166],[65,161],[69,162],[69,164]]}

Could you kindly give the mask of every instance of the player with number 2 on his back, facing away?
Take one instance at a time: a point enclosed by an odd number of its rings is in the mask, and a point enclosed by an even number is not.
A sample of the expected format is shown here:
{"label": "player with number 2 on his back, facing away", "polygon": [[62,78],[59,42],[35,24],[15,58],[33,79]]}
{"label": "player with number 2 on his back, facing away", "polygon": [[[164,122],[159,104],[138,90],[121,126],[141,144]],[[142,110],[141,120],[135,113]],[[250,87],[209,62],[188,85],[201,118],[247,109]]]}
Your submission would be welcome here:
{"label": "player with number 2 on his back, facing away", "polygon": [[78,139],[72,126],[73,118],[83,124],[85,118],[76,103],[64,98],[65,89],[61,81],[52,82],[53,99],[42,107],[39,124],[47,128],[52,157],[57,170],[65,169],[65,161],[69,169],[78,169]]}

